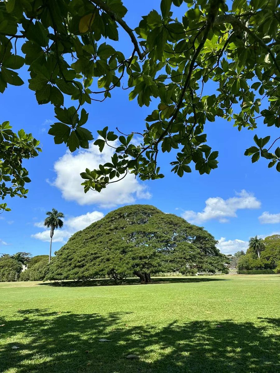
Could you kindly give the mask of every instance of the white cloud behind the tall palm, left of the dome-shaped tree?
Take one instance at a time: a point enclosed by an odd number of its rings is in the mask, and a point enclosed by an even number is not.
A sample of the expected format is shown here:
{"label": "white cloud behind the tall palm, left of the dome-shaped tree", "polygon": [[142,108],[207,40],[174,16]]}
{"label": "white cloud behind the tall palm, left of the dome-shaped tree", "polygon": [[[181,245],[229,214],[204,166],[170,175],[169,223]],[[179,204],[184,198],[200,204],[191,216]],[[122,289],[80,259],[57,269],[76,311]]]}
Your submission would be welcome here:
{"label": "white cloud behind the tall palm, left of the dome-shaped tree", "polygon": [[[88,225],[102,219],[104,214],[100,211],[88,212],[84,215],[74,216],[66,219],[62,229],[55,229],[53,242],[66,242],[75,232],[81,231]],[[43,232],[32,234],[31,237],[40,239],[41,241],[50,241],[50,230],[44,227],[44,222],[34,223],[38,228],[44,228]]]}

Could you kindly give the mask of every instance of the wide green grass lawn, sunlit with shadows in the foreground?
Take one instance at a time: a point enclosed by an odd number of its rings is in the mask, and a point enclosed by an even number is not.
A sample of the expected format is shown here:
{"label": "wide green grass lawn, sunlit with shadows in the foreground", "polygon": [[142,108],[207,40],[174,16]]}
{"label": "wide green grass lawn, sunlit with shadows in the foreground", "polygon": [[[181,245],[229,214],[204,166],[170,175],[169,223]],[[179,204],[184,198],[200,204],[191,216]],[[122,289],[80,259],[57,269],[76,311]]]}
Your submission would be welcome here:
{"label": "wide green grass lawn, sunlit with shadows in the foreground", "polygon": [[0,372],[280,372],[279,275],[155,281],[0,283]]}

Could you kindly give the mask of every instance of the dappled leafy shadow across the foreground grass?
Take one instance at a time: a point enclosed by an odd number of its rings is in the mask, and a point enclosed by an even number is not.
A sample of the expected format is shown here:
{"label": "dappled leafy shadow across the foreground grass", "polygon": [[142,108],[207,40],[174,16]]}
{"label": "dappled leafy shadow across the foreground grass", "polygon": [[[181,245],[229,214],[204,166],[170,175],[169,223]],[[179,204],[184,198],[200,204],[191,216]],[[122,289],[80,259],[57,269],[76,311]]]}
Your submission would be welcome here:
{"label": "dappled leafy shadow across the foreground grass", "polygon": [[[1,320],[0,370],[17,373],[275,373],[280,319],[128,326],[126,313],[20,310]],[[26,320],[27,319],[27,320]],[[223,327],[217,327],[223,325]],[[100,338],[111,340],[99,342]],[[6,340],[6,342],[5,342]],[[6,343],[6,344],[3,344]],[[13,350],[12,346],[19,347]],[[129,360],[128,354],[140,358]]]}

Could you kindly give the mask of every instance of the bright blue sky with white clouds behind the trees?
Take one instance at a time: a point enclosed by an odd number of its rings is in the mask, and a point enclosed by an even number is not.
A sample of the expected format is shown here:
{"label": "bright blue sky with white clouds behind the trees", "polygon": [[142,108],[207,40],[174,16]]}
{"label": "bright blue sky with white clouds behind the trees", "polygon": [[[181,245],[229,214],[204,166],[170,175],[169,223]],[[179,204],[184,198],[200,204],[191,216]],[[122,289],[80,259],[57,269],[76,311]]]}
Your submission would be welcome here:
{"label": "bright blue sky with white clouds behind the trees", "polygon": [[[160,1],[134,3],[124,0],[128,8],[126,21],[137,25],[141,15],[152,8],[159,9]],[[129,56],[132,47],[120,32],[118,49]],[[27,82],[28,73],[20,72]],[[209,85],[203,94],[214,93],[214,85]],[[93,168],[111,156],[110,151],[100,156],[91,144],[88,151],[70,154],[64,144],[55,145],[48,135],[50,124],[55,120],[50,104],[37,104],[34,92],[28,84],[11,87],[1,96],[1,120],[9,120],[14,130],[24,128],[41,141],[43,152],[35,159],[28,160],[32,182],[28,185],[27,199],[7,198],[11,212],[0,215],[0,253],[29,251],[33,255],[48,254],[49,232],[42,227],[47,210],[55,207],[65,214],[65,226],[55,231],[53,252],[58,250],[69,236],[79,229],[100,219],[109,211],[131,203],[152,204],[166,213],[185,217],[188,221],[204,226],[219,240],[224,253],[246,250],[249,237],[267,236],[280,232],[279,173],[268,169],[266,161],[251,163],[244,151],[253,145],[252,131],[238,132],[233,123],[217,119],[208,123],[205,131],[208,144],[219,151],[218,169],[210,175],[197,172],[179,178],[170,172],[169,162],[174,154],[163,154],[159,161],[165,178],[157,181],[141,182],[125,179],[115,183],[100,194],[84,194],[79,173],[85,167]],[[70,102],[68,102],[70,106]],[[67,104],[68,104],[67,103]],[[141,130],[144,118],[156,107],[140,108],[137,102],[128,100],[128,91],[117,89],[112,98],[103,103],[93,103],[86,107],[89,112],[87,128],[97,137],[97,129],[116,126],[122,132]],[[278,129],[267,128],[261,122],[255,131],[259,137],[279,136]]]}

